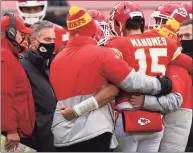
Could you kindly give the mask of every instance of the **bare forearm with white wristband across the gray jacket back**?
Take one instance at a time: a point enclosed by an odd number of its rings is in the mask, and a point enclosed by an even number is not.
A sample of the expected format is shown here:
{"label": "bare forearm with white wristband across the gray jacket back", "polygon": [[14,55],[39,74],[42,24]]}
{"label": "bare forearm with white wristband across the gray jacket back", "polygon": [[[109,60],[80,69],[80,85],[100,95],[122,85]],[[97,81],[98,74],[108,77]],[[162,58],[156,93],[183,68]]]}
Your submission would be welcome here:
{"label": "bare forearm with white wristband across the gray jacket back", "polygon": [[111,102],[115,96],[119,93],[119,89],[112,85],[108,84],[98,91],[94,96],[82,101],[81,103],[74,106],[74,112],[77,116],[84,115],[95,109],[103,107]]}

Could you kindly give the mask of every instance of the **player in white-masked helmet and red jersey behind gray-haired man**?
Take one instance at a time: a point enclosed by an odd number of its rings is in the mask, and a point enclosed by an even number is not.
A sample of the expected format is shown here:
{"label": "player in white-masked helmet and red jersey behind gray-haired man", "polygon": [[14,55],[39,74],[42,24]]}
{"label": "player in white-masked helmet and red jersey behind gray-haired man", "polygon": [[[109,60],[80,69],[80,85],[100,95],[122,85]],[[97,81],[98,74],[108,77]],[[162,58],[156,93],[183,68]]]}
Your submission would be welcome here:
{"label": "player in white-masked helmet and red jersey behind gray-haired man", "polygon": [[[35,0],[35,1],[27,1],[27,0],[19,0],[16,1],[16,9],[23,20],[23,22],[31,26],[34,23],[43,20],[46,15],[46,10],[48,6],[48,1]],[[64,21],[65,22],[65,21]],[[63,27],[59,25],[55,25],[55,51],[54,54],[59,53],[63,50],[64,46],[68,41],[68,33]]]}

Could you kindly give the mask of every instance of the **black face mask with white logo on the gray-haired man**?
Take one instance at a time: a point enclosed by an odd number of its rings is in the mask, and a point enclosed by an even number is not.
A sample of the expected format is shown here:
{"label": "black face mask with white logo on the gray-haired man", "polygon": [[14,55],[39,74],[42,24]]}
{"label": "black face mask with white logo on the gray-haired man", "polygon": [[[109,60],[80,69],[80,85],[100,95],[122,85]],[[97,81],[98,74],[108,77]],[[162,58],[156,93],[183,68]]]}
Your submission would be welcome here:
{"label": "black face mask with white logo on the gray-haired man", "polygon": [[47,60],[52,56],[54,49],[55,49],[55,43],[51,43],[51,44],[40,43],[38,47],[38,52],[41,57]]}

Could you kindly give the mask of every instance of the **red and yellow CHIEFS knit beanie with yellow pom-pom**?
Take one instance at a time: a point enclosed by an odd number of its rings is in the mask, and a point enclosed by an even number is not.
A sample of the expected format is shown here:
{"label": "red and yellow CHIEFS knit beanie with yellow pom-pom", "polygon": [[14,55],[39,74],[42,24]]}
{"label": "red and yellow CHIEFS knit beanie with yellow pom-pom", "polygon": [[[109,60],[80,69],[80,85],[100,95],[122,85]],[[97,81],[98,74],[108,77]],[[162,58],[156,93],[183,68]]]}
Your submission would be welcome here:
{"label": "red and yellow CHIEFS knit beanie with yellow pom-pom", "polygon": [[86,10],[72,6],[67,17],[70,35],[93,36],[97,32],[96,23]]}

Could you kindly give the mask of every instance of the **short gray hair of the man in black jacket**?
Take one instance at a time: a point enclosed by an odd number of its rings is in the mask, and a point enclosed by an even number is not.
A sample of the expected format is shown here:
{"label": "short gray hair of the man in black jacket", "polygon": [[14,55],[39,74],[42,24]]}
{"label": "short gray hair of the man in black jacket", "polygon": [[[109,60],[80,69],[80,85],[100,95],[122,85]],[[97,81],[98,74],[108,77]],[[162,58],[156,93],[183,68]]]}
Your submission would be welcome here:
{"label": "short gray hair of the man in black jacket", "polygon": [[42,20],[42,21],[39,21],[39,22],[36,22],[35,24],[33,24],[31,26],[31,28],[34,30],[34,32],[31,33],[29,37],[31,37],[31,36],[39,37],[40,36],[40,31],[42,29],[54,28],[54,24],[50,21]]}

